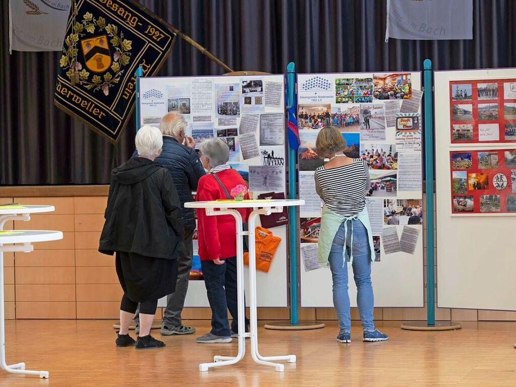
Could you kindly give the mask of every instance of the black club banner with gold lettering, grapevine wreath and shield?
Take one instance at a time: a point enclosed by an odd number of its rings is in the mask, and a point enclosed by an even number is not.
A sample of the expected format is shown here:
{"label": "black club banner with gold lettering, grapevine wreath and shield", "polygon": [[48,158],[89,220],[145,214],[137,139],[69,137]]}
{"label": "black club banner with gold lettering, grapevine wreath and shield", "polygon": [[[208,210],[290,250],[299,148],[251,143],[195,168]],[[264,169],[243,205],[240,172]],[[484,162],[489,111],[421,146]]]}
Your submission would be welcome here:
{"label": "black club banner with gold lettering, grapevine wreath and shield", "polygon": [[155,74],[173,34],[132,0],[74,0],[55,104],[116,142],[134,108],[135,72]]}

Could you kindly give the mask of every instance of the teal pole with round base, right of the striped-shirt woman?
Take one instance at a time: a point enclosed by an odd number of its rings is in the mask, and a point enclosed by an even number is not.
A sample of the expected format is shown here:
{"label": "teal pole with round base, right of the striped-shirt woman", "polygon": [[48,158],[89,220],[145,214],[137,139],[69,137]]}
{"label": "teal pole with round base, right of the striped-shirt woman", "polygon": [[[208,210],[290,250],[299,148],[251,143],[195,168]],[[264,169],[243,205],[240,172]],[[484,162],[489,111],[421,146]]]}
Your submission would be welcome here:
{"label": "teal pole with round base, right of the striped-shirt woman", "polygon": [[432,61],[425,59],[423,62],[423,90],[424,90],[424,130],[425,130],[425,181],[426,181],[426,299],[427,299],[427,320],[411,321],[401,325],[402,329],[425,330],[425,331],[447,331],[460,329],[461,325],[453,321],[436,321],[436,279],[434,276],[435,256],[433,251],[434,243],[434,221],[433,221],[433,81]]}

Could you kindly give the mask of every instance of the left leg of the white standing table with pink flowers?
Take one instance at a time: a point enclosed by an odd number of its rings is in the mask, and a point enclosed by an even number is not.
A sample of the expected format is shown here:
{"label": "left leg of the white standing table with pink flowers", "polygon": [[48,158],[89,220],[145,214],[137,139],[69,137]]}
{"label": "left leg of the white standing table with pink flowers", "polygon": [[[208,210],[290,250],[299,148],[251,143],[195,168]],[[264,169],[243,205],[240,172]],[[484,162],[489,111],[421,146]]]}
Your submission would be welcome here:
{"label": "left leg of the white standing table with pink flowers", "polygon": [[231,365],[238,363],[244,358],[246,353],[246,336],[245,320],[246,320],[246,305],[244,304],[244,245],[243,245],[243,225],[242,217],[236,209],[221,209],[214,211],[213,209],[206,209],[206,215],[231,215],[235,218],[236,223],[236,286],[237,286],[237,305],[238,305],[238,353],[236,357],[232,356],[214,356],[213,363],[199,364],[199,370],[207,371],[209,368],[221,367],[224,365]]}

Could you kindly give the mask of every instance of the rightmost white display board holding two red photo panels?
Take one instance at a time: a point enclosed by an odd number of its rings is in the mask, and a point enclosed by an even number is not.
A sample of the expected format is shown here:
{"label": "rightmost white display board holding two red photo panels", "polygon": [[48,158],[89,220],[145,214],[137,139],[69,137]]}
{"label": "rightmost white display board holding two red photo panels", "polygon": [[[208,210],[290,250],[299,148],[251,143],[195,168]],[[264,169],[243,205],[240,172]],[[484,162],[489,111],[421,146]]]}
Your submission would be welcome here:
{"label": "rightmost white display board holding two red photo panels", "polygon": [[438,306],[516,310],[516,70],[434,76]]}

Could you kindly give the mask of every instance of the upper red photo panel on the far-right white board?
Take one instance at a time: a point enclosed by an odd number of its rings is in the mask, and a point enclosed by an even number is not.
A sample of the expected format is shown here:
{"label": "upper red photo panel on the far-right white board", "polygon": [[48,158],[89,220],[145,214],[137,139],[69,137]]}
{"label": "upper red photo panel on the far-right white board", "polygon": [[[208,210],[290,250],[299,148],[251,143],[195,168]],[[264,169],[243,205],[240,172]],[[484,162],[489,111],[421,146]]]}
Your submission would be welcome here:
{"label": "upper red photo panel on the far-right white board", "polygon": [[451,143],[516,142],[516,79],[450,81]]}

